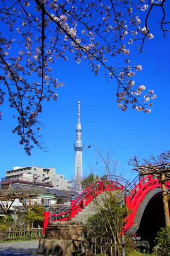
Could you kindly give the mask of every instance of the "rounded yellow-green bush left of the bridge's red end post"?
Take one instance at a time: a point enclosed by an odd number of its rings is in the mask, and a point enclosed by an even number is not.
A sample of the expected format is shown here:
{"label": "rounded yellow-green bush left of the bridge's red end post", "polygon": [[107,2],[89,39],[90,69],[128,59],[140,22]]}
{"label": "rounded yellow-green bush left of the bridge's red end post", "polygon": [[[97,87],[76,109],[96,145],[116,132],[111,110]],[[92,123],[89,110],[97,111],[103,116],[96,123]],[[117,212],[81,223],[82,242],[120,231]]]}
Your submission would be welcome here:
{"label": "rounded yellow-green bush left of the bridge's red end post", "polygon": [[37,227],[38,225],[42,226],[43,220],[44,220],[44,211],[45,211],[45,207],[42,205],[39,205],[35,201],[34,205],[31,207],[31,211],[28,211],[26,213],[26,219],[29,222],[33,222],[34,227]]}

